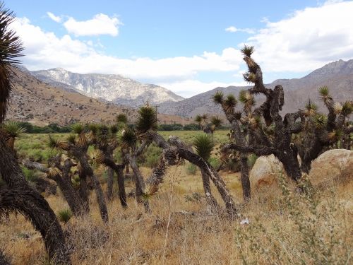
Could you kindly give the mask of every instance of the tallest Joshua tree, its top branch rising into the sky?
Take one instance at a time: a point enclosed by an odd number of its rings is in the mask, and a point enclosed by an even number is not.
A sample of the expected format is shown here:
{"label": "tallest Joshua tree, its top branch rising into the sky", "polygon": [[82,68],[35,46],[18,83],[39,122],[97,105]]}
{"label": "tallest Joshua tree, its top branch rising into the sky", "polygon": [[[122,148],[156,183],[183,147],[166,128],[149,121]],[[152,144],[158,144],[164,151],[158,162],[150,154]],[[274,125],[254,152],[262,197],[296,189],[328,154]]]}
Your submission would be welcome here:
{"label": "tallest Joshua tree, its top branch rising into the sky", "polygon": [[[245,46],[241,52],[244,54],[244,61],[249,69],[244,74],[244,79],[253,83],[253,88],[249,88],[239,95],[239,100],[244,103],[244,117],[242,113],[234,110],[236,105],[234,96],[231,95],[224,99],[221,93],[215,95],[215,101],[222,105],[227,119],[232,124],[236,139],[235,143],[227,143],[222,150],[237,150],[242,155],[247,153],[254,153],[258,156],[273,154],[282,162],[287,175],[297,182],[301,177],[301,170],[297,158],[297,147],[291,143],[291,140],[292,134],[297,134],[303,129],[304,115],[298,111],[285,114],[285,117],[282,117],[280,110],[285,104],[282,86],[275,86],[274,89],[265,88],[261,68],[251,58],[253,47]],[[259,107],[253,109],[253,95],[259,93],[265,95],[266,100]],[[261,116],[265,124],[263,124]],[[297,122],[299,118],[300,122]],[[270,126],[273,126],[273,136],[265,133]],[[246,136],[248,143],[245,142]],[[244,159],[244,163],[241,165],[245,165],[245,156],[242,159]]]}

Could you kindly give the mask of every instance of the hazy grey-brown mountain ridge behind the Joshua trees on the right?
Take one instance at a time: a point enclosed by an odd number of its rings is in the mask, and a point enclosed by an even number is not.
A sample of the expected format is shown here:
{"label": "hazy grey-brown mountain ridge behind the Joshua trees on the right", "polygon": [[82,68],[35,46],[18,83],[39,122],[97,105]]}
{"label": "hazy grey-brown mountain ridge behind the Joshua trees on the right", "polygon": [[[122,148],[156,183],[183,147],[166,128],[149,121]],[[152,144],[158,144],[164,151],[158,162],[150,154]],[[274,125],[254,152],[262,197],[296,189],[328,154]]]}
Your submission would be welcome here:
{"label": "hazy grey-brown mountain ridge behind the Joshua trees on the right", "polygon": [[[309,98],[318,104],[319,110],[325,111],[323,103],[318,100],[318,88],[321,86],[328,86],[331,95],[337,101],[353,99],[353,59],[334,61],[316,69],[303,78],[278,79],[266,86],[274,88],[277,85],[282,85],[285,89],[285,106],[282,113],[295,112],[299,108],[304,108]],[[162,104],[160,112],[182,117],[195,117],[196,114],[202,113],[222,114],[220,106],[215,105],[211,99],[217,90],[222,91],[225,95],[232,93],[237,96],[240,90],[246,88],[249,88],[249,86],[215,88],[186,100]],[[257,102],[263,102],[263,99],[261,95],[256,96]]]}

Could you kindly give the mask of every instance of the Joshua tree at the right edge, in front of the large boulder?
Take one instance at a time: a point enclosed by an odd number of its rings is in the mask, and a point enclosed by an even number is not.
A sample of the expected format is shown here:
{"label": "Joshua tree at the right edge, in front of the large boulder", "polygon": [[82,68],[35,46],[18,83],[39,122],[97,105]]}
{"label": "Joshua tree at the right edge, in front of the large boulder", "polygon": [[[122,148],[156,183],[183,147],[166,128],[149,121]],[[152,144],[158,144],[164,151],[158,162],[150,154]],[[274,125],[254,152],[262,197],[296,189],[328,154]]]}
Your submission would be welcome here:
{"label": "Joshua tree at the right edge, in front of the large boulder", "polygon": [[342,104],[335,102],[326,86],[318,91],[328,108],[328,115],[318,112],[318,107],[309,100],[303,111],[306,117],[304,130],[295,139],[301,158],[301,170],[306,173],[311,169],[311,162],[329,146],[337,148],[340,141],[342,148],[350,149],[349,134],[353,131],[353,127],[347,124],[353,110],[353,101]]}

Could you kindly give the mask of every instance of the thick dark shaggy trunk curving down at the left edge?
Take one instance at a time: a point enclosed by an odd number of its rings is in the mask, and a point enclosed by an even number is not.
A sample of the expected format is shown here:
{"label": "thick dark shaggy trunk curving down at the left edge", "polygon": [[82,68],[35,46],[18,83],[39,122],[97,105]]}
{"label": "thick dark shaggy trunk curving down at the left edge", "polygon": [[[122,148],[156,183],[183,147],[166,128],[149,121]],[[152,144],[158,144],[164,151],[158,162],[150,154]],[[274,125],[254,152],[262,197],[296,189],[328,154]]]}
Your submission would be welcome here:
{"label": "thick dark shaggy trunk curving down at the left edge", "polygon": [[[71,264],[64,233],[47,201],[32,189],[23,176],[13,151],[0,133],[0,175],[9,187],[1,192],[0,213],[20,211],[43,237],[49,258],[56,264]],[[14,191],[13,189],[16,189]]]}

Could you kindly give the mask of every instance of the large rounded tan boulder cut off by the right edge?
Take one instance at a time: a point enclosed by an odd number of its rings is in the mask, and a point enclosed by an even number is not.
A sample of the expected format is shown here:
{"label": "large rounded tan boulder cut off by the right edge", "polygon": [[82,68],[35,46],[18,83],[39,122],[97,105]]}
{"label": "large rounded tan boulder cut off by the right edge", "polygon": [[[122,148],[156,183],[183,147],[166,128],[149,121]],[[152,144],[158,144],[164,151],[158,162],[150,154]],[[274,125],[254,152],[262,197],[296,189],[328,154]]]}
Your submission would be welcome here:
{"label": "large rounded tan boulder cut off by the right edge", "polygon": [[353,177],[353,151],[333,149],[322,153],[311,163],[309,172],[311,183],[343,183]]}

